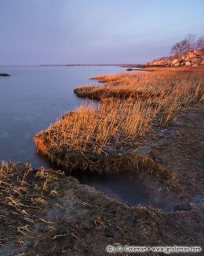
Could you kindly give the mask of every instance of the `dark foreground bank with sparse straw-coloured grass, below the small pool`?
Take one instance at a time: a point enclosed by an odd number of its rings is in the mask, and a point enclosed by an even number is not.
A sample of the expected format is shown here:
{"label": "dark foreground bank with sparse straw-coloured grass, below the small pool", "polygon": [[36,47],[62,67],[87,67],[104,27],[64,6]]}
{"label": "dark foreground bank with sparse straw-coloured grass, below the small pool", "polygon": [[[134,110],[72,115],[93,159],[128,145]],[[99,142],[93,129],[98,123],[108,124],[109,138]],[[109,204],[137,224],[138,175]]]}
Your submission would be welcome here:
{"label": "dark foreground bank with sparse straw-coloured grass, below the small pool", "polygon": [[1,255],[104,256],[108,244],[203,244],[193,204],[169,213],[129,208],[73,177],[28,164],[3,162],[0,185]]}

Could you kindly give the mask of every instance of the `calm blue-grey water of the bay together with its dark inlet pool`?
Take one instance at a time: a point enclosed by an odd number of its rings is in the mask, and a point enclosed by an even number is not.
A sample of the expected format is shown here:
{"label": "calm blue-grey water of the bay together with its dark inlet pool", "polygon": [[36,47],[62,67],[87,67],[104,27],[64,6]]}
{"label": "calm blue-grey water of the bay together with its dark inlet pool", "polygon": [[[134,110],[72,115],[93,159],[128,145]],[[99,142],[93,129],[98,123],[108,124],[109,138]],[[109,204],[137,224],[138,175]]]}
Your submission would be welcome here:
{"label": "calm blue-grey water of the bay together with its dark inlet pool", "polygon": [[[36,154],[35,133],[82,103],[73,89],[80,84],[97,84],[89,77],[125,70],[115,66],[0,67],[0,72],[11,75],[0,76],[0,162],[24,161],[35,168],[53,167]],[[77,176],[83,184],[96,187],[120,202],[162,207],[161,202],[149,195],[148,185],[142,181],[124,176]]]}

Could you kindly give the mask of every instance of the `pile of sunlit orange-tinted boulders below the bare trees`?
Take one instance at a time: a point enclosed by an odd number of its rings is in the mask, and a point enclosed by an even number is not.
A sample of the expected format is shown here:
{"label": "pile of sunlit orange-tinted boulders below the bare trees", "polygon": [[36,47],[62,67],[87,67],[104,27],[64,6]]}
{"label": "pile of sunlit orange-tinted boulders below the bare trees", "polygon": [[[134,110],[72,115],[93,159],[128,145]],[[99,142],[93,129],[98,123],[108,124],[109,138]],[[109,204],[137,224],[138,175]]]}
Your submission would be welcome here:
{"label": "pile of sunlit orange-tinted boulders below the bare trees", "polygon": [[158,58],[154,61],[145,63],[145,65],[168,67],[199,67],[204,65],[204,50],[190,50],[187,53],[179,53],[169,57]]}

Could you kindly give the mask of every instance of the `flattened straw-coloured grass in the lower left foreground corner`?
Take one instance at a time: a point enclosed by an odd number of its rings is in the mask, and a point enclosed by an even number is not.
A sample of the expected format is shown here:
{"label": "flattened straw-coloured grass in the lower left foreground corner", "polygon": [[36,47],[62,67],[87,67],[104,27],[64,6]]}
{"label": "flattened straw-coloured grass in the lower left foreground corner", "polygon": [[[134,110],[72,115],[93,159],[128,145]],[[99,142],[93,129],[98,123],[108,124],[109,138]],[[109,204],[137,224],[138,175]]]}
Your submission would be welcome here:
{"label": "flattened straw-coloured grass in the lower left foreground corner", "polygon": [[[50,198],[58,195],[61,173],[33,170],[29,164],[0,165],[0,245],[6,241],[24,243],[21,236],[35,239],[31,226],[46,224],[42,218]],[[49,198],[49,199],[48,199]]]}

